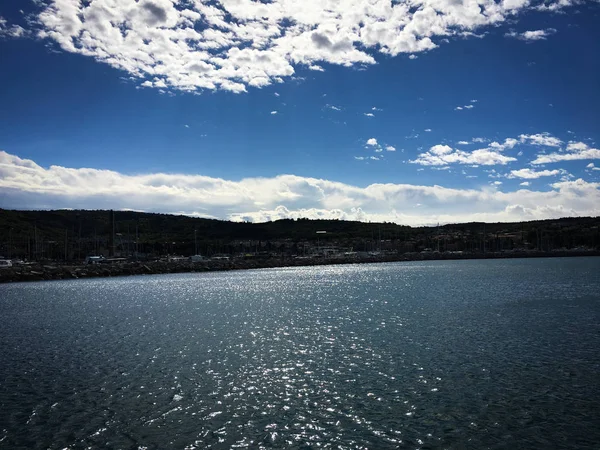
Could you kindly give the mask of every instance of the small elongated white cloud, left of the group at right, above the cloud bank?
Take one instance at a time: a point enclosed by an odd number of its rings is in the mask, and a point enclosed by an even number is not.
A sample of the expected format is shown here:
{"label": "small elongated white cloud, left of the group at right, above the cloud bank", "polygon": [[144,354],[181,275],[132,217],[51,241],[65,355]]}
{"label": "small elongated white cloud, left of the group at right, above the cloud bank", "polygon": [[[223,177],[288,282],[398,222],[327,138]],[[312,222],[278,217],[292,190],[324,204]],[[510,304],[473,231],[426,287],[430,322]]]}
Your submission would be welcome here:
{"label": "small elongated white cloud, left of the group at right, above the cloud bank", "polygon": [[[497,144],[497,143],[496,143]],[[504,148],[482,148],[467,152],[464,150],[453,149],[448,145],[434,145],[429,151],[420,153],[417,159],[410,161],[413,164],[422,166],[445,166],[448,164],[475,164],[482,166],[505,165],[516,161],[516,158],[505,156],[500,153]]]}

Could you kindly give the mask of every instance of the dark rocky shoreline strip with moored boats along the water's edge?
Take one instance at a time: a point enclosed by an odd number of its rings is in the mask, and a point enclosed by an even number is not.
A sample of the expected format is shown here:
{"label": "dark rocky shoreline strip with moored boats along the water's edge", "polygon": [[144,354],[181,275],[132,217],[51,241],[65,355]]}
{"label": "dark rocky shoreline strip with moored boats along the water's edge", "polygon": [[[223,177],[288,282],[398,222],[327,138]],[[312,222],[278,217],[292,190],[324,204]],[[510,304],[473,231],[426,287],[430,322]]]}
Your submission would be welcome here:
{"label": "dark rocky shoreline strip with moored boats along the water's edge", "polygon": [[189,261],[136,261],[97,265],[27,264],[0,269],[0,284],[28,281],[108,278],[133,275],[160,275],[167,273],[205,273],[229,270],[271,269],[280,267],[307,267],[335,264],[369,264],[408,261],[451,261],[471,259],[558,258],[600,256],[600,251],[528,251],[510,253],[416,253],[380,255],[369,258],[270,258]]}

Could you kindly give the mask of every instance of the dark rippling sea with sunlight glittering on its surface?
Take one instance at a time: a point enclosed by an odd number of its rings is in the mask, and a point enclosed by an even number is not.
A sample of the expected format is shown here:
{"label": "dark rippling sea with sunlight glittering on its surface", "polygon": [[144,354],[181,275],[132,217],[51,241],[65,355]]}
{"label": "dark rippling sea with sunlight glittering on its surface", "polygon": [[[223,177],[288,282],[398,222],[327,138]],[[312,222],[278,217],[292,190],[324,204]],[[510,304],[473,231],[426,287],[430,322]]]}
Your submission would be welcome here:
{"label": "dark rippling sea with sunlight glittering on its surface", "polygon": [[2,449],[598,449],[600,258],[0,286]]}

